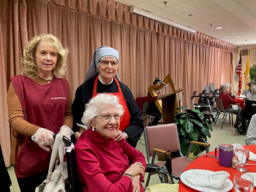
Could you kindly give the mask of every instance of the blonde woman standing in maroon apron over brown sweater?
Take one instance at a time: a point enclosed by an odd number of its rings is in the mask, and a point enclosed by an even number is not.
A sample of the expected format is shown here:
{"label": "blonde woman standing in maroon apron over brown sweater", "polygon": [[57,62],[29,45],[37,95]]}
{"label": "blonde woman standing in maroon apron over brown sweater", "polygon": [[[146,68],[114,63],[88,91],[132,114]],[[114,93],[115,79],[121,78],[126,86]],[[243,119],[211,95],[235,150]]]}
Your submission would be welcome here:
{"label": "blonde woman standing in maroon apron over brown sweater", "polygon": [[71,91],[66,72],[68,49],[51,34],[35,36],[23,51],[22,75],[11,77],[7,93],[12,127],[11,164],[21,192],[34,192],[47,176],[53,134],[70,138]]}

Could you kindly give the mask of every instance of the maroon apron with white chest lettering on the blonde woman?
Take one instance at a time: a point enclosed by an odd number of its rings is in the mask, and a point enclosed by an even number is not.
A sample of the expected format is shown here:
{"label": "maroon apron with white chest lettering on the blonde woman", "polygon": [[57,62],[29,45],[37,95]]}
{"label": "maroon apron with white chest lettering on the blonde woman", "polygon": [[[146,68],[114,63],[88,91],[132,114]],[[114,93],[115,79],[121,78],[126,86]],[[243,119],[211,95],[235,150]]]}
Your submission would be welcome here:
{"label": "maroon apron with white chest lettering on the blonde woman", "polygon": [[[27,76],[11,77],[11,81],[19,96],[25,120],[57,134],[63,125],[67,110],[68,81],[54,77],[51,83],[39,85]],[[15,154],[17,178],[47,171],[51,152],[52,150],[45,151],[30,138],[25,137],[19,156]]]}

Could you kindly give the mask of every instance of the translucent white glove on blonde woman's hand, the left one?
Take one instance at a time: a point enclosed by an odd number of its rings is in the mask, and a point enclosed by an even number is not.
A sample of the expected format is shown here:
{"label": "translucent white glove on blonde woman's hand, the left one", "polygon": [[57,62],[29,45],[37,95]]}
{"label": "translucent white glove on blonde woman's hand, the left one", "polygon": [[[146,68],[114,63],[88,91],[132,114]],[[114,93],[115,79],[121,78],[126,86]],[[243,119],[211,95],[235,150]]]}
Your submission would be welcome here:
{"label": "translucent white glove on blonde woman's hand, the left one", "polygon": [[45,151],[50,151],[50,148],[46,146],[53,145],[53,134],[54,133],[48,129],[39,128],[37,132],[31,137],[31,139],[35,141],[37,145],[39,145],[39,147],[41,147]]}

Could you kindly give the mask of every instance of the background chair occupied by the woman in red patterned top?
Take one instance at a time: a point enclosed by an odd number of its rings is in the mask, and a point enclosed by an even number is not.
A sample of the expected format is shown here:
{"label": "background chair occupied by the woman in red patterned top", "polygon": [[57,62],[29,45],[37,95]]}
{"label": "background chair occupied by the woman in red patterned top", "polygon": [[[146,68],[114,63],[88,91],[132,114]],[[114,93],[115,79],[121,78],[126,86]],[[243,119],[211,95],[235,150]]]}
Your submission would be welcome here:
{"label": "background chair occupied by the woman in red patterned top", "polygon": [[[223,123],[222,123],[222,125],[221,125],[221,128],[220,129],[222,129],[222,127],[223,127],[223,125],[224,125],[224,123],[225,123],[225,121],[226,121],[226,118],[227,118],[227,115],[229,114],[229,123],[231,123],[230,122],[230,114],[231,114],[231,117],[232,117],[232,126],[233,126],[233,113],[239,113],[239,111],[240,111],[240,107],[239,107],[239,104],[238,104],[238,109],[237,110],[233,110],[233,108],[232,108],[232,106],[233,105],[237,105],[237,104],[232,104],[232,105],[230,105],[229,106],[229,108],[228,109],[224,109],[224,106],[223,106],[223,103],[222,103],[222,99],[221,98],[218,98],[218,97],[216,97],[215,98],[215,103],[216,103],[216,106],[217,106],[217,114],[216,114],[216,116],[215,116],[215,123],[214,123],[214,125],[217,123],[217,120],[218,120],[218,118],[219,118],[219,116],[220,116],[220,114],[221,115],[223,115],[223,118],[224,118],[224,121],[223,121]],[[222,114],[222,113],[223,114]]]}

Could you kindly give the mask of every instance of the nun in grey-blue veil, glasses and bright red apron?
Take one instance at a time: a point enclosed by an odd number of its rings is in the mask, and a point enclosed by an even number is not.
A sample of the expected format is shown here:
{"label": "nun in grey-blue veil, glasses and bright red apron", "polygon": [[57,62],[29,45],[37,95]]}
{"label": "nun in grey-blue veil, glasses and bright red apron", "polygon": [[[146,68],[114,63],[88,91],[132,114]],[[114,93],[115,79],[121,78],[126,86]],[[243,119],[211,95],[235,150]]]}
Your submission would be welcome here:
{"label": "nun in grey-blue veil, glasses and bright red apron", "polygon": [[119,52],[107,46],[100,46],[93,54],[92,62],[85,76],[84,83],[76,90],[72,104],[74,116],[73,131],[75,139],[81,135],[77,124],[85,110],[85,104],[99,93],[111,93],[118,97],[124,107],[123,120],[115,140],[125,139],[131,146],[136,147],[143,131],[143,120],[140,117],[140,108],[137,106],[130,89],[119,81],[117,68],[119,67]]}

